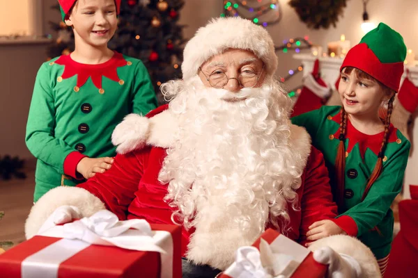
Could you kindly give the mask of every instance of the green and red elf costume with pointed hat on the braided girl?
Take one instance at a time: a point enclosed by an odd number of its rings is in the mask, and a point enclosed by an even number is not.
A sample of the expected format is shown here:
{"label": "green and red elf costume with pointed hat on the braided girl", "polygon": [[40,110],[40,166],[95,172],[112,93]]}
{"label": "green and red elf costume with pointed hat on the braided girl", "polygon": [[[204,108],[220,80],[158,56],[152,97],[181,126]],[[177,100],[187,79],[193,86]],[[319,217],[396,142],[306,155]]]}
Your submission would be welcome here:
{"label": "green and red elf costume with pointed hat on the braided girl", "polygon": [[[357,68],[398,92],[405,56],[406,47],[401,35],[380,23],[348,51],[340,71],[344,67]],[[338,191],[334,162],[339,142],[343,140],[345,188],[339,190],[343,209],[334,222],[348,235],[362,240],[377,259],[386,258],[391,250],[394,224],[390,206],[402,188],[410,142],[392,124],[387,124],[386,144],[382,147],[385,131],[366,135],[355,129],[348,117],[346,132],[341,134],[341,106],[323,106],[293,117],[292,122],[304,126],[311,135],[312,144],[323,152],[334,192]],[[378,158],[382,159],[382,172],[366,190]],[[334,197],[338,199],[336,195]]]}

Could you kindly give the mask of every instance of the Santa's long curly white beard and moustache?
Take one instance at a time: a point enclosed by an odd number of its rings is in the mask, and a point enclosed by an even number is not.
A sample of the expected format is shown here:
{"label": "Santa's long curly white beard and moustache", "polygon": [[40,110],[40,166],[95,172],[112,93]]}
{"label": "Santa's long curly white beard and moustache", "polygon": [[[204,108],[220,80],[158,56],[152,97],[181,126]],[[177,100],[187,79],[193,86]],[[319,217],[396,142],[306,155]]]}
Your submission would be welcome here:
{"label": "Santa's long curly white beard and moustache", "polygon": [[[289,142],[290,100],[274,82],[238,93],[176,82],[163,87],[180,90],[169,107],[179,129],[159,179],[173,220],[196,229],[187,258],[225,269],[268,222],[284,227],[297,202],[303,167]],[[245,100],[225,101],[237,97]]]}

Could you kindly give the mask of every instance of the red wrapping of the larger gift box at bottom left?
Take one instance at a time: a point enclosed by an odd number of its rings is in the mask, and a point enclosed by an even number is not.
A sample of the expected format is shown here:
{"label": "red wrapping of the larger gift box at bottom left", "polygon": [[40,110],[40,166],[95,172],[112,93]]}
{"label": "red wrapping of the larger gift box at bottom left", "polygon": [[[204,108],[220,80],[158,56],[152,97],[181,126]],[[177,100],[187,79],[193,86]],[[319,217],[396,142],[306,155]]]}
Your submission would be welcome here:
{"label": "red wrapping of the larger gift box at bottom left", "polygon": [[[168,277],[180,278],[182,276],[181,228],[176,225],[166,224],[150,224],[150,226],[153,231],[169,231],[171,234],[173,241],[173,269],[172,272],[169,271]],[[66,239],[34,236],[1,254],[0,277],[22,277],[22,262],[36,252],[45,249],[45,247],[59,242],[59,240]],[[74,241],[79,242],[80,240]],[[49,255],[52,257],[59,256],[59,252]],[[57,276],[59,278],[162,277],[160,253],[89,245],[84,250],[71,256],[70,259],[60,263]],[[31,273],[30,277],[39,276]]]}

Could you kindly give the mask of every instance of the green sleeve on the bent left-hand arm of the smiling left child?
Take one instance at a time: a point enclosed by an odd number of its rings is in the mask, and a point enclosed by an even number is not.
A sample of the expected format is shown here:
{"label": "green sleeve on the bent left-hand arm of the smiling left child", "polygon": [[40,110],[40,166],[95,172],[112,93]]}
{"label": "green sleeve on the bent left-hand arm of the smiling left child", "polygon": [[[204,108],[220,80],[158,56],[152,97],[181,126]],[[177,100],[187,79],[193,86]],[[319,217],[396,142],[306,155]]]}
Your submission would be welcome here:
{"label": "green sleeve on the bent left-hand arm of the smiling left child", "polygon": [[33,156],[63,172],[65,157],[75,149],[54,137],[56,108],[49,67],[47,63],[43,64],[36,76],[25,140]]}

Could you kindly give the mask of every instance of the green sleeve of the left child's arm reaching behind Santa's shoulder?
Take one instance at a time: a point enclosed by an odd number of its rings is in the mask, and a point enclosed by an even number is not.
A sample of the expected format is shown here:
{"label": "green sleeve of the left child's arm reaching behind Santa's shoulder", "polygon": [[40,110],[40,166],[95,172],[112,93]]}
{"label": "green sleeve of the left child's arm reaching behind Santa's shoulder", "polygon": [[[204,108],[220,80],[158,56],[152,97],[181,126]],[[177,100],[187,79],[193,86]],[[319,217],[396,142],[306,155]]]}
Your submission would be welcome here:
{"label": "green sleeve of the left child's arm reaching behind Santa's shoulder", "polygon": [[157,108],[157,97],[151,83],[148,70],[144,63],[139,61],[135,69],[134,86],[132,88],[132,113],[146,115],[149,111]]}

